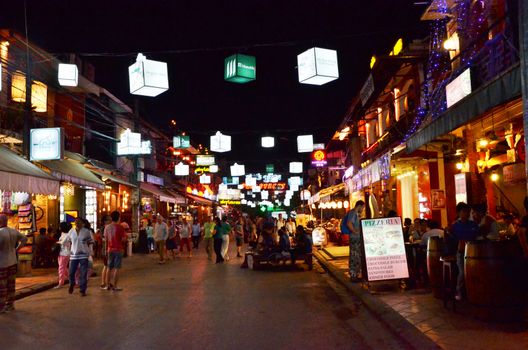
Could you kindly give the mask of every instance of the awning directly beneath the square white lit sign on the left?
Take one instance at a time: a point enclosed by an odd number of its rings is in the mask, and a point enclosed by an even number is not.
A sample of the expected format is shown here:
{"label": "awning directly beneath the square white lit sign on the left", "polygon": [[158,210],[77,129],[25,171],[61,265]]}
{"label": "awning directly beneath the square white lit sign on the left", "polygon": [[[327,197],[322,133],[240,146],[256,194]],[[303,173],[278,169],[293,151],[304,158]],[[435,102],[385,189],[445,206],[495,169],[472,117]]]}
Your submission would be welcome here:
{"label": "awning directly beneath the square white lit sign on the left", "polygon": [[87,186],[103,190],[105,184],[84,165],[71,159],[46,160],[39,162],[51,170],[51,174],[61,181],[78,186]]}

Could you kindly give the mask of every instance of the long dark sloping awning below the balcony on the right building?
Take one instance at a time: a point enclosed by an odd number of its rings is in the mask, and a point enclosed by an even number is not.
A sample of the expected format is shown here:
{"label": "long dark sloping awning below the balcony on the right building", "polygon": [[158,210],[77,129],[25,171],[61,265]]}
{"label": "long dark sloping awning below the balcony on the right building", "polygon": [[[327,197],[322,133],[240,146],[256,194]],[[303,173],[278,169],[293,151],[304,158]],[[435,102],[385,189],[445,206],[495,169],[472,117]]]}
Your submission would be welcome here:
{"label": "long dark sloping awning below the balcony on the right building", "polygon": [[521,96],[521,68],[517,65],[418,130],[407,140],[407,153],[416,151],[435,138],[450,133],[486,111],[519,96]]}

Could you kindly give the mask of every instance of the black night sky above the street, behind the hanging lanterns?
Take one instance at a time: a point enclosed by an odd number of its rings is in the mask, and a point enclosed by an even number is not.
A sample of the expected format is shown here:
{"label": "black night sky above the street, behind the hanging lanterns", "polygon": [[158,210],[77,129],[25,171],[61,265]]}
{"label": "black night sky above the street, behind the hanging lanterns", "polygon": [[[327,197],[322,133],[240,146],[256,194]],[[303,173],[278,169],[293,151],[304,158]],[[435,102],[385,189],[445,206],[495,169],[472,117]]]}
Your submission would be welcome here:
{"label": "black night sky above the street, behind the hanging lanterns", "polygon": [[[372,54],[399,37],[426,35],[424,5],[389,0],[60,1],[27,0],[29,38],[51,53],[76,53],[96,67],[96,83],[133,104],[128,66],[138,52],[168,62],[170,90],[141,98],[143,116],[168,129],[171,119],[193,142],[208,145],[221,130],[233,136],[230,161],[264,164],[304,160],[296,136],[327,142],[365,81]],[[0,27],[24,33],[23,1],[2,4]],[[318,46],[338,51],[340,78],[324,86],[298,83],[297,54]],[[257,80],[223,80],[224,58],[257,58]],[[279,138],[273,150],[260,136]]]}

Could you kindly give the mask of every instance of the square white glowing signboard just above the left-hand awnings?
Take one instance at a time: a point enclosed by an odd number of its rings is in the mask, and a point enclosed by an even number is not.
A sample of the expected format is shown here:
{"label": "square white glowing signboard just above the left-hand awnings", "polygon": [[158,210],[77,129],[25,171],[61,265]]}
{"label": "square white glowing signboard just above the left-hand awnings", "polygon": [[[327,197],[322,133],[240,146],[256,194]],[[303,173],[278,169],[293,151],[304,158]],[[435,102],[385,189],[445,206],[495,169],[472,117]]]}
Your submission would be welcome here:
{"label": "square white glowing signboard just above the left-hand awnings", "polygon": [[29,159],[57,160],[64,157],[64,131],[62,128],[31,129]]}

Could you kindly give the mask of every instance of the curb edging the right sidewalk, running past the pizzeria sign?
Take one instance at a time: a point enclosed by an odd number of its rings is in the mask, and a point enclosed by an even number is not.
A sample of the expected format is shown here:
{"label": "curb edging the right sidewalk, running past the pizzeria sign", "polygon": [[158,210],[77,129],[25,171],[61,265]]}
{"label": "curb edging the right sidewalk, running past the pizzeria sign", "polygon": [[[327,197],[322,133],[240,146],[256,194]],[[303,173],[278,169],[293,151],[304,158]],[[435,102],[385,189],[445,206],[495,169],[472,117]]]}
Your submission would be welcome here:
{"label": "curb edging the right sidewalk, running past the pizzeria sign", "polygon": [[420,332],[419,329],[409,323],[409,321],[386,303],[364,290],[359,284],[351,283],[344,274],[329,264],[318,251],[314,251],[313,255],[335,280],[358,297],[363,305],[376,318],[383,322],[395,336],[415,349],[441,349],[438,344]]}

